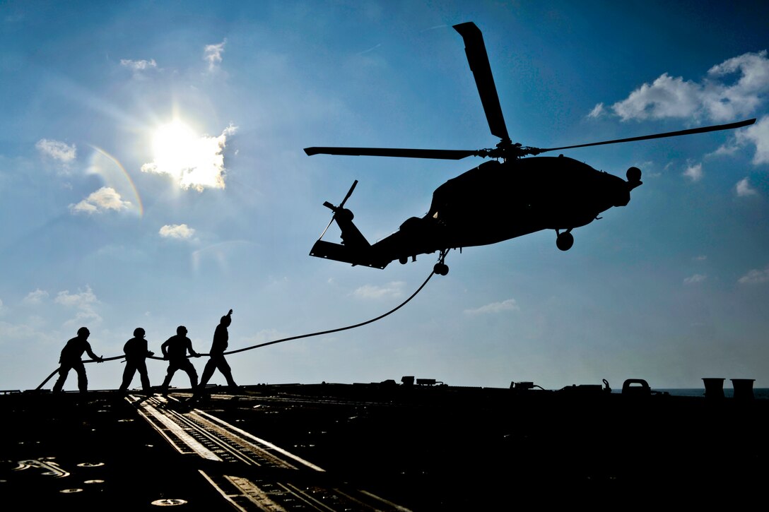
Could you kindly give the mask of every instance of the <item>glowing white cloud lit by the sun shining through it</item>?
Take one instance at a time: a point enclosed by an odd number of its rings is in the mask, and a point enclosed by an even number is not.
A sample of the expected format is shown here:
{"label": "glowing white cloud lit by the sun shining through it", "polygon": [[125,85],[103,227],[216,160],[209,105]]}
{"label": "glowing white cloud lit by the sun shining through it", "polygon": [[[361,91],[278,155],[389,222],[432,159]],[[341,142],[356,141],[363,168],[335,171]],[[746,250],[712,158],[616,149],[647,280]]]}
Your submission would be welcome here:
{"label": "glowing white cloud lit by the sun shining through it", "polygon": [[227,138],[237,130],[237,126],[229,125],[218,137],[196,137],[182,128],[180,133],[172,133],[165,143],[158,141],[162,147],[155,148],[155,160],[142,165],[141,171],[170,175],[185,190],[194,188],[201,192],[204,188],[225,188],[223,150]]}

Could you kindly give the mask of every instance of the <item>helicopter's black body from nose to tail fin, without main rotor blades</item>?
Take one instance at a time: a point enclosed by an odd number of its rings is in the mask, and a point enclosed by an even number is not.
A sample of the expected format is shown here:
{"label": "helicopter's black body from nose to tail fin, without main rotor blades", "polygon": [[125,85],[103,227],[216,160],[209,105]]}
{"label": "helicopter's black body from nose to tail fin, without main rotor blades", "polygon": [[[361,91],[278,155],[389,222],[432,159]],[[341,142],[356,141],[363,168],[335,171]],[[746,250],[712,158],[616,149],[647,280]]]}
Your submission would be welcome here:
{"label": "helicopter's black body from nose to tail fin, without main rotor blades", "polygon": [[345,209],[335,216],[342,245],[318,241],[310,254],[384,268],[418,254],[444,256],[452,248],[496,244],[543,229],[568,233],[612,206],[628,204],[638,185],[640,173],[624,181],[564,156],[487,161],[446,181],[424,217],[409,218],[375,244],[368,244]]}

